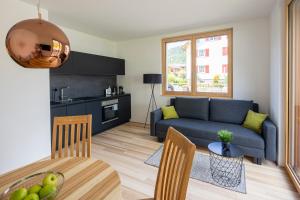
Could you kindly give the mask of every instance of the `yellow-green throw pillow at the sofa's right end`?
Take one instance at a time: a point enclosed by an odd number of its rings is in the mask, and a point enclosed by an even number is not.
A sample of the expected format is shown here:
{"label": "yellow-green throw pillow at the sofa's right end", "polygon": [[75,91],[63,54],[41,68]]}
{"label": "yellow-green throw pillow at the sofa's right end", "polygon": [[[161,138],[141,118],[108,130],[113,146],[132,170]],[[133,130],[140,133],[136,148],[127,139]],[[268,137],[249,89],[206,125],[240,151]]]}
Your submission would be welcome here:
{"label": "yellow-green throw pillow at the sofa's right end", "polygon": [[267,114],[256,113],[252,110],[249,110],[246,119],[243,123],[243,127],[251,129],[256,133],[261,133],[262,124],[267,117]]}

